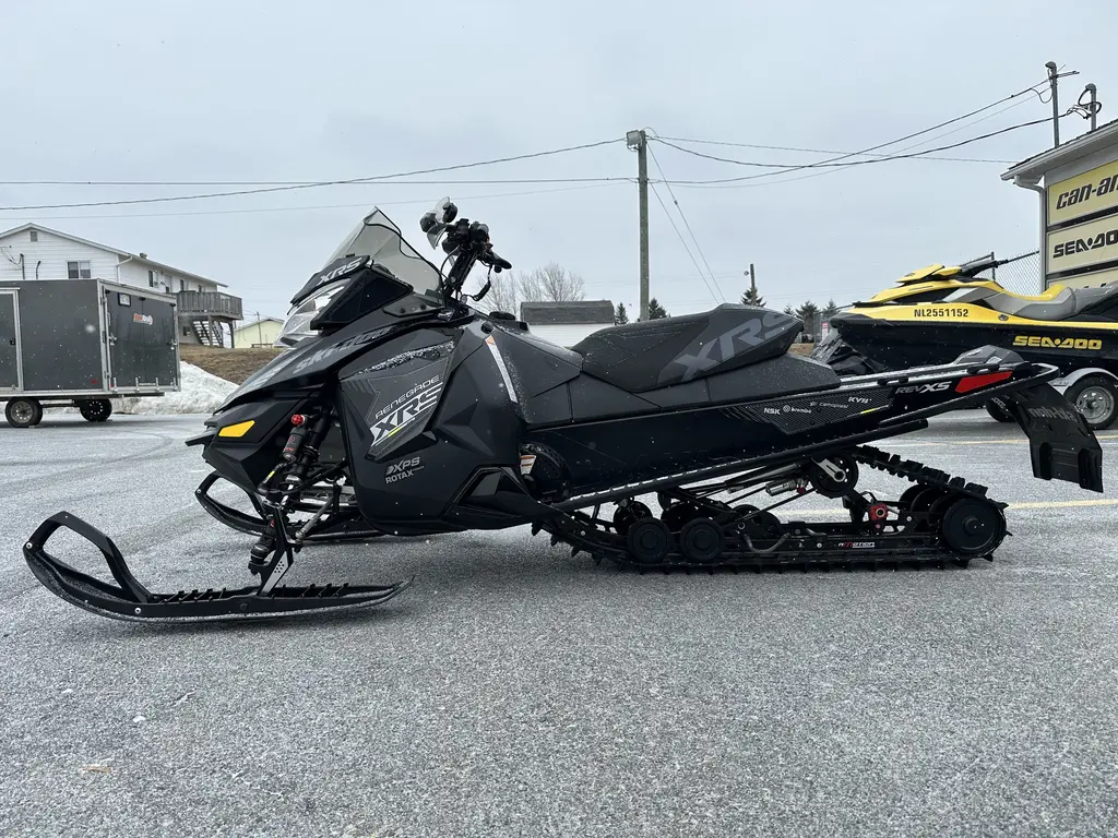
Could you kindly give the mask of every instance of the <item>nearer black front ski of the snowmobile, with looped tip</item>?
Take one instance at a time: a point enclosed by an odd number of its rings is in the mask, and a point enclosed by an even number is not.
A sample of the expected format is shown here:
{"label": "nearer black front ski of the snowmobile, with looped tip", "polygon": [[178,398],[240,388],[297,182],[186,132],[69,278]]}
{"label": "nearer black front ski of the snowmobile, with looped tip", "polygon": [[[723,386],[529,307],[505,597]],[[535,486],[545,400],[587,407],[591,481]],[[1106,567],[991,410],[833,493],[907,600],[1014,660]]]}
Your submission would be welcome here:
{"label": "nearer black front ski of the snowmobile, with looped tip", "polygon": [[[116,584],[75,570],[46,551],[46,542],[59,528],[80,535],[105,559]],[[257,587],[152,593],[129,570],[112,540],[68,512],[59,512],[35,531],[23,545],[23,558],[44,587],[70,604],[117,620],[191,622],[209,620],[291,617],[310,611],[338,611],[387,602],[411,580],[390,585],[325,584],[306,587]],[[276,581],[290,566],[290,555],[277,555],[268,568]]]}

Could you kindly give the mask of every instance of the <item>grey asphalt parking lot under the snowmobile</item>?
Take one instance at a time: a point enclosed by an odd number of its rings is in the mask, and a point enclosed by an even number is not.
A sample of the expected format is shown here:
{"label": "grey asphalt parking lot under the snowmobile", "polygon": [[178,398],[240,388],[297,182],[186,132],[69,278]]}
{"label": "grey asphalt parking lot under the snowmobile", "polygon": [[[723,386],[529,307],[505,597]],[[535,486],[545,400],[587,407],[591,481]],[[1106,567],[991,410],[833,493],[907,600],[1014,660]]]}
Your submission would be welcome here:
{"label": "grey asphalt parking lot under the snowmobile", "polygon": [[1101,498],[985,413],[882,444],[1015,504],[965,571],[637,575],[518,530],[306,551],[295,580],[417,577],[318,620],[38,585],[20,546],[64,508],[153,589],[247,583],[199,428],[0,425],[2,836],[1118,834],[1118,432]]}

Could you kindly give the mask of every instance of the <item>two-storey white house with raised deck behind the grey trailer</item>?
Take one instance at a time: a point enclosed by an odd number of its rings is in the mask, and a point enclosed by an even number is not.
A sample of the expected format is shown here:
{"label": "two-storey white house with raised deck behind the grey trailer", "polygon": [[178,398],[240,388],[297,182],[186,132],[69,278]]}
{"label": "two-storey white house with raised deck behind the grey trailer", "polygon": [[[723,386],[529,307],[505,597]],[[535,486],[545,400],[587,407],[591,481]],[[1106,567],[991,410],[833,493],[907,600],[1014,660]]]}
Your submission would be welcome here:
{"label": "two-storey white house with raised deck behind the grey trailer", "polygon": [[105,279],[178,298],[179,341],[226,345],[241,317],[238,297],[221,283],[181,268],[98,245],[68,232],[26,223],[0,232],[0,280]]}

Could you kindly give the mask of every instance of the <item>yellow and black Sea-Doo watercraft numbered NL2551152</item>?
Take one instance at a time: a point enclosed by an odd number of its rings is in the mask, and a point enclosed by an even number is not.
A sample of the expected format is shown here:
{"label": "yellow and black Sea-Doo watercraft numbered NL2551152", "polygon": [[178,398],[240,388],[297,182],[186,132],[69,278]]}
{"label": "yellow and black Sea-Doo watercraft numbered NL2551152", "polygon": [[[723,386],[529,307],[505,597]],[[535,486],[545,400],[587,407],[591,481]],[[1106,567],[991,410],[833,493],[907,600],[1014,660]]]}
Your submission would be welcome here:
{"label": "yellow and black Sea-Doo watercraft numbered NL2551152", "polygon": [[[902,277],[864,303],[830,320],[812,356],[840,375],[947,363],[976,346],[1012,350],[1023,360],[1052,364],[1052,385],[1093,430],[1118,420],[1118,285],[1013,294],[980,274],[1005,260],[931,265]],[[1013,421],[1001,400],[991,416]]]}

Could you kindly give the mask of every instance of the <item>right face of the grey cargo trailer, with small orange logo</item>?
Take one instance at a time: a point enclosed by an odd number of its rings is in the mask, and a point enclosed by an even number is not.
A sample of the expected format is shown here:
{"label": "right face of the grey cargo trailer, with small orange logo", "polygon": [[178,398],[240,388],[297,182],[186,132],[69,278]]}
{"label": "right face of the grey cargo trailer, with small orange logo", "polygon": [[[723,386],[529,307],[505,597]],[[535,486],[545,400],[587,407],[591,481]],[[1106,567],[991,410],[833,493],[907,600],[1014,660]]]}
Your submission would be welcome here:
{"label": "right face of the grey cargo trailer, with small orange logo", "polygon": [[174,306],[134,289],[104,286],[110,362],[119,390],[178,381]]}

